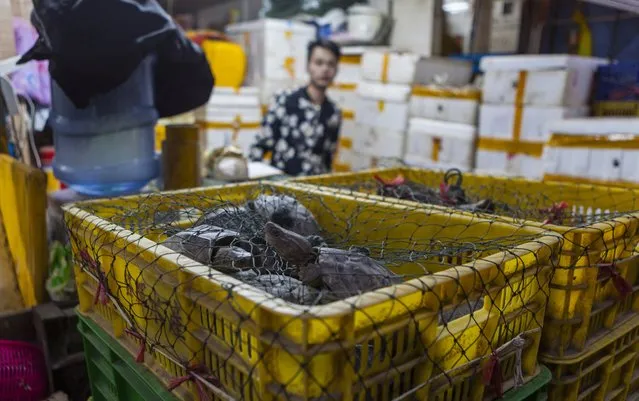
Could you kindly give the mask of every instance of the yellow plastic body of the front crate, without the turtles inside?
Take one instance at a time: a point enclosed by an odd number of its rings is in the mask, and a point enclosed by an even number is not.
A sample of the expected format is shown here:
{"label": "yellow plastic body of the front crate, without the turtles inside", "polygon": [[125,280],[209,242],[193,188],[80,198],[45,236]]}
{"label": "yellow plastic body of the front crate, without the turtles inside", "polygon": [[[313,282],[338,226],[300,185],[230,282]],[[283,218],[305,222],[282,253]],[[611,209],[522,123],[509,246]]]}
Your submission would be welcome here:
{"label": "yellow plastic body of the front crate, without the turtles inside", "polygon": [[[453,243],[474,249],[419,263],[404,260],[390,266],[415,277],[403,284],[301,306],[240,285],[156,242],[164,238],[161,225],[153,224],[162,213],[181,211],[179,224],[185,226],[199,216],[192,208],[261,193],[296,197],[327,233],[353,245],[376,241],[387,253]],[[526,379],[537,373],[540,327],[561,241],[541,229],[292,184],[178,191],[65,210],[78,260],[80,311],[107,322],[115,337],[144,345],[145,363],[161,366],[160,378],[185,376],[204,365],[220,383],[206,386],[210,396],[480,400],[489,392],[481,375],[487,357],[519,335],[521,360],[512,349],[499,359],[506,389],[516,365]],[[372,252],[381,257],[382,250]],[[424,269],[433,274],[424,276]],[[483,305],[465,310],[469,299],[483,299]],[[461,313],[440,321],[451,310]],[[198,399],[193,383],[183,389],[188,391],[178,393],[181,399]]]}

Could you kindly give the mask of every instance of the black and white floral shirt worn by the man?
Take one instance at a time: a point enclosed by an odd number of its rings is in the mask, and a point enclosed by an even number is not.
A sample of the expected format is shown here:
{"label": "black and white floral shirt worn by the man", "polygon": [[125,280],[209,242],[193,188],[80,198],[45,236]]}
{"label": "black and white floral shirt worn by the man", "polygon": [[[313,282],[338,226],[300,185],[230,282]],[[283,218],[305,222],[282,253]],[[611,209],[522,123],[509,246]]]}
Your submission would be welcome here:
{"label": "black and white floral shirt worn by the man", "polygon": [[285,174],[316,175],[331,171],[337,149],[341,111],[328,98],[316,105],[306,87],[274,96],[250,158],[271,152],[271,165]]}

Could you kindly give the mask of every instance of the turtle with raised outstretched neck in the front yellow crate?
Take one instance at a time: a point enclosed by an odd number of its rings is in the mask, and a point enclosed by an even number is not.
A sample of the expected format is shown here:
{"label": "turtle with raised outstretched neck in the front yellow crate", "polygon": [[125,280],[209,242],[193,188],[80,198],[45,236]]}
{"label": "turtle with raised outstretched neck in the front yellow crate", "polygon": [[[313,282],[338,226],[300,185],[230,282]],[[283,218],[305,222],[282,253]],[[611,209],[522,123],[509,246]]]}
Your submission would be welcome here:
{"label": "turtle with raised outstretched neck in the front yellow crate", "polygon": [[297,267],[304,284],[338,296],[353,296],[402,282],[401,277],[361,251],[313,247],[307,238],[273,222],[266,223],[264,237],[283,260]]}

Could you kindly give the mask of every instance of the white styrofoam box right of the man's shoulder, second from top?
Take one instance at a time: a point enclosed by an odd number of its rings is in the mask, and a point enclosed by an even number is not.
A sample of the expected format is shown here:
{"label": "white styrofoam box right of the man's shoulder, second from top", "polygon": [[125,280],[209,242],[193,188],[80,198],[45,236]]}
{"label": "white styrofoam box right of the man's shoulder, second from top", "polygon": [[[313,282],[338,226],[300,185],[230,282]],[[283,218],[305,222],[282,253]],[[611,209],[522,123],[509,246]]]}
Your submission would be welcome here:
{"label": "white styrofoam box right of the man's shoulder, second from top", "polygon": [[408,126],[410,86],[360,82],[355,120],[364,125],[404,131]]}

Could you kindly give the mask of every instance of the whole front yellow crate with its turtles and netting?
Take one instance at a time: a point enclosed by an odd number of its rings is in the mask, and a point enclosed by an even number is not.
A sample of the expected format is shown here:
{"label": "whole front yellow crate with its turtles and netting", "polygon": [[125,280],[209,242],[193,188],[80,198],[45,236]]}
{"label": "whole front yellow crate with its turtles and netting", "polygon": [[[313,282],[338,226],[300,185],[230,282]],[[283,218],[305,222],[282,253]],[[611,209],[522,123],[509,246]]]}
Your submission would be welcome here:
{"label": "whole front yellow crate with its turtles and netting", "polygon": [[200,400],[497,397],[537,373],[561,242],[295,184],[84,202],[66,223],[81,311]]}

